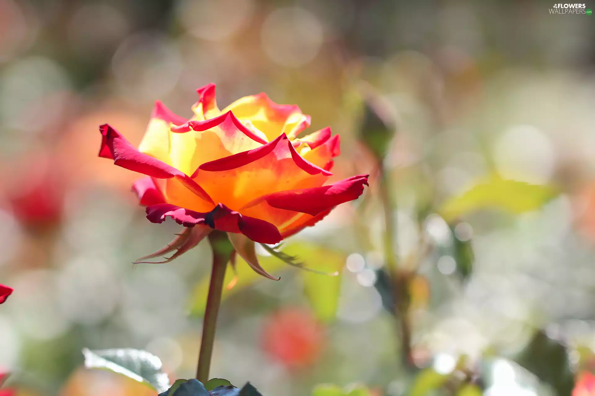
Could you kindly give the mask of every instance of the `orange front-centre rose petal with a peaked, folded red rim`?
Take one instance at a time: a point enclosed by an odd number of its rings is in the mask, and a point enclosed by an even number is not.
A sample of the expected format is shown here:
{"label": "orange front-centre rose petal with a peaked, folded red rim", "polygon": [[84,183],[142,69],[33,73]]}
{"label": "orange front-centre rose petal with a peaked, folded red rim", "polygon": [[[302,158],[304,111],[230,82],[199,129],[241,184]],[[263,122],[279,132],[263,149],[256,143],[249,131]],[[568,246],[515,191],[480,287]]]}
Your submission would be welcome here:
{"label": "orange front-centre rose petal with a peaked, folded red rim", "polygon": [[320,186],[328,175],[300,157],[280,135],[254,150],[202,164],[192,178],[215,201],[238,210],[271,192]]}

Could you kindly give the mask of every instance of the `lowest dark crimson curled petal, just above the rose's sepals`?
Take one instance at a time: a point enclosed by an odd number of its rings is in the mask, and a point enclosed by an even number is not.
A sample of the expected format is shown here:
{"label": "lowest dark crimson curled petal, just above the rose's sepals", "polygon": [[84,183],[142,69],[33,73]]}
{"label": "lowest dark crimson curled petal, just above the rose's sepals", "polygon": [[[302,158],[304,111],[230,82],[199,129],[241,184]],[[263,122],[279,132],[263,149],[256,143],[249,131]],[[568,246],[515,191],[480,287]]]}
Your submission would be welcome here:
{"label": "lowest dark crimson curled petal, just above the rose's sepals", "polygon": [[185,227],[201,224],[224,232],[242,233],[259,243],[277,243],[282,239],[273,224],[259,218],[242,216],[223,204],[218,204],[208,213],[200,213],[171,204],[158,204],[148,207],[146,213],[152,223],[162,223],[165,217],[170,216]]}

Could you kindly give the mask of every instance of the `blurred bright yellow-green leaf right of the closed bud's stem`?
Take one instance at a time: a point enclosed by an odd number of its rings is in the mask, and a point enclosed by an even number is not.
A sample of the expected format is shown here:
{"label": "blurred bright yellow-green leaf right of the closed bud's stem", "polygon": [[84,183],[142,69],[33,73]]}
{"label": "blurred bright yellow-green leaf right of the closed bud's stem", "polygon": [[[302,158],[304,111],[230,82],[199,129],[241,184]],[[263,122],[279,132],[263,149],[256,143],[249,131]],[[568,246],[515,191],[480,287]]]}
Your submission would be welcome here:
{"label": "blurred bright yellow-green leaf right of the closed bud's stem", "polygon": [[489,207],[519,214],[540,208],[556,194],[556,189],[552,186],[505,180],[492,175],[462,195],[449,199],[439,213],[447,222],[463,214]]}

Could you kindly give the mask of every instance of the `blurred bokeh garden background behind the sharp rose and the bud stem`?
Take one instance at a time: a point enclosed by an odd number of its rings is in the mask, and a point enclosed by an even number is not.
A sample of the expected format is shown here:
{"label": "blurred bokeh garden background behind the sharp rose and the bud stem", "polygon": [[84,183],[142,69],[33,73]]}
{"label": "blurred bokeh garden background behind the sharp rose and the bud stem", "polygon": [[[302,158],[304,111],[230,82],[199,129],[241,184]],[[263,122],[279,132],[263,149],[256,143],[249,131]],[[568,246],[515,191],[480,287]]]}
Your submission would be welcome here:
{"label": "blurred bokeh garden background behind the sharp rose and the bud stem", "polygon": [[[211,82],[221,108],[261,91],[298,104],[310,131],[341,134],[337,179],[371,173],[362,198],[287,242],[339,276],[264,250],[280,281],[238,269],[213,376],[284,396],[321,382],[456,394],[452,378],[488,395],[569,394],[568,376],[595,367],[595,17],[551,7],[0,0],[0,281],[15,289],[0,366],[19,394],[147,392],[82,369],[83,347],[146,349],[172,379],[193,376],[209,247],[133,267],[179,230],[149,223],[134,173],[97,157],[98,125],[137,144],[155,100],[189,116]],[[370,95],[395,132],[380,159]],[[383,208],[414,274],[414,368],[383,308]]]}

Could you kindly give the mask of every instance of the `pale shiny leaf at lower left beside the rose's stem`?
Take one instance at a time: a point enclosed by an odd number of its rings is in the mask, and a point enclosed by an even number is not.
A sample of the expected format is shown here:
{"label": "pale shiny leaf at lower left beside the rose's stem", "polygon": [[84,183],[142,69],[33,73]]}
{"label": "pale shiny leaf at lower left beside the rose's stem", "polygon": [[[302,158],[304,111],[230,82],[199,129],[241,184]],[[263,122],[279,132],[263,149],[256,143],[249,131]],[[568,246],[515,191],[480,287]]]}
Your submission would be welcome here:
{"label": "pale shiny leaf at lower left beside the rose's stem", "polygon": [[109,370],[146,384],[161,393],[170,388],[170,379],[163,372],[161,360],[154,354],[137,349],[83,349],[87,369]]}

